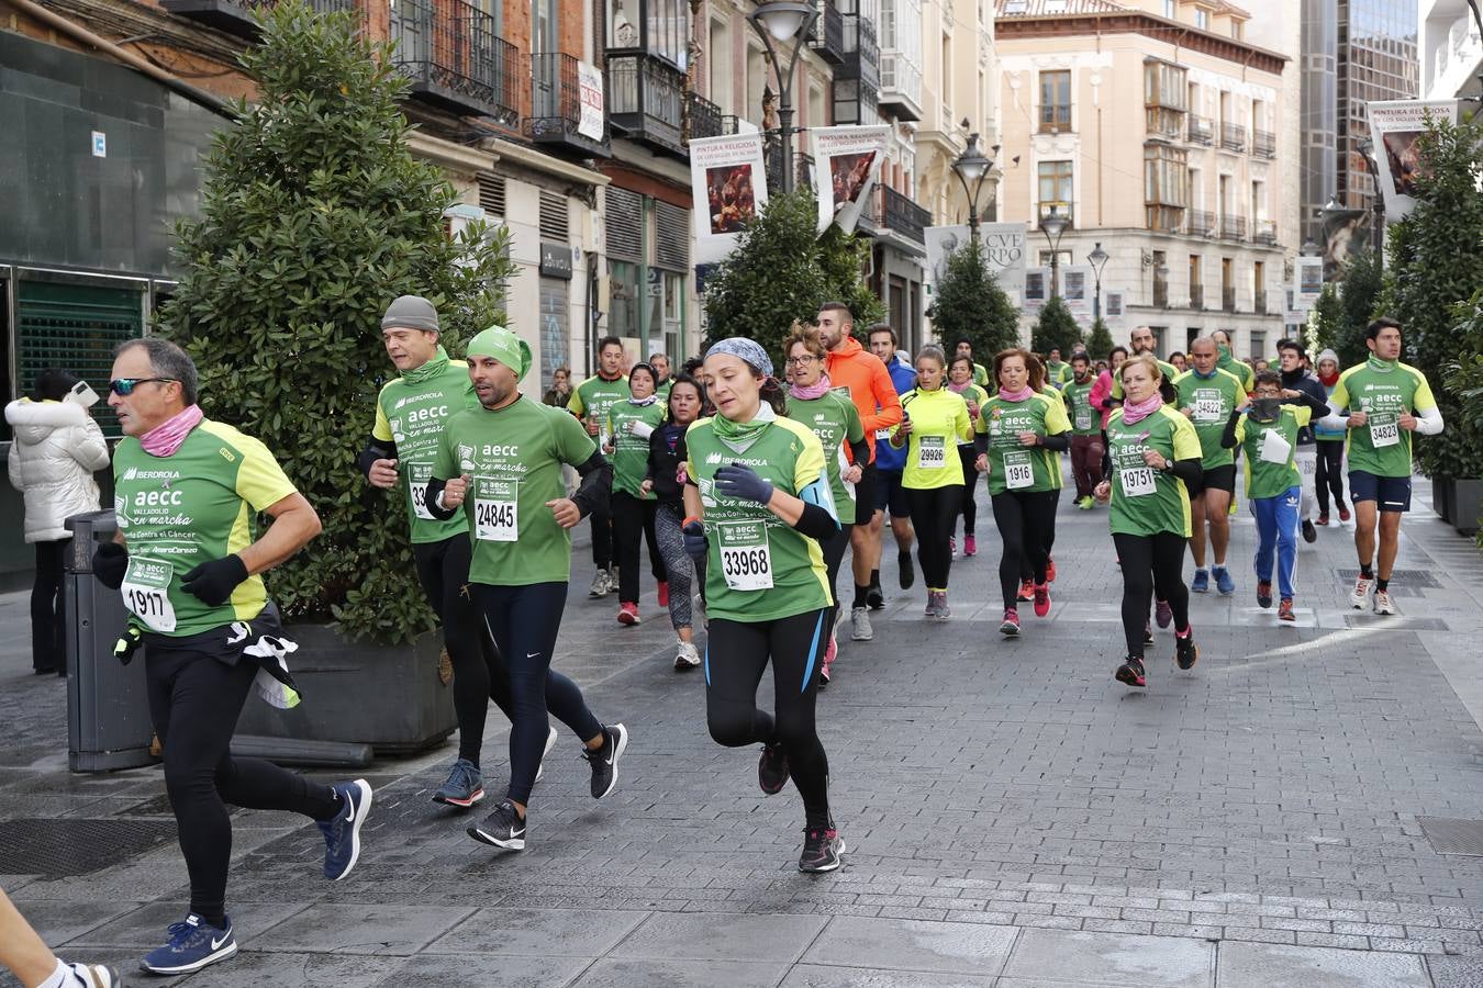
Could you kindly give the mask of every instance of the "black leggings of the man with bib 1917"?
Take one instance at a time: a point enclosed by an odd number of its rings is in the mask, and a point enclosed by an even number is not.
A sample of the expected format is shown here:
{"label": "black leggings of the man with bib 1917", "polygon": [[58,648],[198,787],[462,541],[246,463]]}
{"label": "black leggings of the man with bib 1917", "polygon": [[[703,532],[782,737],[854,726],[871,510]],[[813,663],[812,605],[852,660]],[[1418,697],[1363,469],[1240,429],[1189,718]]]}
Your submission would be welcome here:
{"label": "black leggings of the man with bib 1917", "polygon": [[[227,803],[254,810],[286,810],[326,821],[340,810],[328,785],[258,758],[233,758],[231,735],[258,667],[227,665],[228,628],[206,635],[199,649],[172,647],[151,637],[145,655],[150,720],[165,745],[165,788],[175,810],[175,830],[190,874],[190,911],[221,926],[231,861]],[[240,649],[240,646],[237,646]]]}

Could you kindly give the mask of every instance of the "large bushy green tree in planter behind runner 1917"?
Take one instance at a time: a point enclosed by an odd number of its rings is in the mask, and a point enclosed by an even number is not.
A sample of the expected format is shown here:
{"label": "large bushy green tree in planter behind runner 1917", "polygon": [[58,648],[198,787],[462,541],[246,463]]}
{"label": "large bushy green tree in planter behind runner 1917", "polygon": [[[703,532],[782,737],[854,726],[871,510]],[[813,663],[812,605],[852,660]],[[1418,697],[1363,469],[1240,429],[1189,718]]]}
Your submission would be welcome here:
{"label": "large bushy green tree in planter behind runner 1917", "polygon": [[369,489],[354,465],[394,373],[380,318],[423,295],[451,351],[503,321],[507,236],[445,234],[457,194],[408,150],[406,81],[356,15],[285,0],[261,27],[242,56],[258,102],[212,142],[160,330],[200,367],[206,413],[262,440],[325,523],[270,575],[283,613],[409,640],[433,616],[409,578],[403,493]]}

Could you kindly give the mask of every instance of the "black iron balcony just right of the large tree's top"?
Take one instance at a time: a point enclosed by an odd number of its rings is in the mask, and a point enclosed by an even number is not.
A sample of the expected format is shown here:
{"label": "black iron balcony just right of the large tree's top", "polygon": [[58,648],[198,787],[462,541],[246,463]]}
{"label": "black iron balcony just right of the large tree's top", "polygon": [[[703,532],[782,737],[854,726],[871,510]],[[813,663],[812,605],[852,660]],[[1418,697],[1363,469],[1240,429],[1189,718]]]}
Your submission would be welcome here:
{"label": "black iron balcony just right of the large tree's top", "polygon": [[397,0],[392,39],[393,64],[415,98],[519,126],[529,84],[525,59],[494,33],[494,15],[464,0]]}

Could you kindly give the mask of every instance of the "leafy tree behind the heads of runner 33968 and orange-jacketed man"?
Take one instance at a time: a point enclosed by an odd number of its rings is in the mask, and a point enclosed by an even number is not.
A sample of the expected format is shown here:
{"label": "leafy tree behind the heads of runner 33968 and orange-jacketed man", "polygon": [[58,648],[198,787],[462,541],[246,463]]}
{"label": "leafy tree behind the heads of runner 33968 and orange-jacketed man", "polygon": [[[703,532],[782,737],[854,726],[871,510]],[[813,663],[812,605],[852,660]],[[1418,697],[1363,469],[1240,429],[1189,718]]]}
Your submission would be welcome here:
{"label": "leafy tree behind the heads of runner 33968 and orange-jacketed man", "polygon": [[[819,204],[808,188],[768,197],[762,213],[737,240],[737,249],[706,283],[709,339],[746,336],[774,360],[793,320],[813,321],[825,302],[844,302],[856,335],[885,317],[885,307],[862,273],[871,244],[836,225],[820,237]],[[900,333],[902,327],[896,327]]]}

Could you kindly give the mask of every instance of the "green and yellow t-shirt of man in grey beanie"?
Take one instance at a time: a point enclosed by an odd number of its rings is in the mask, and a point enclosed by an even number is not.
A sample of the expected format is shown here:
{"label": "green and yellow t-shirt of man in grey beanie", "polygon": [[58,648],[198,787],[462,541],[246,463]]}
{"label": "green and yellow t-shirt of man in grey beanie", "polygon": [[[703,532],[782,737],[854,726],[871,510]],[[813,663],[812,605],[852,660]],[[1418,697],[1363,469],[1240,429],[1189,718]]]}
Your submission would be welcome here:
{"label": "green and yellow t-shirt of man in grey beanie", "polygon": [[469,379],[469,364],[449,360],[436,375],[417,384],[406,378],[389,381],[375,400],[375,425],[371,435],[396,443],[397,473],[406,483],[406,520],[412,542],[442,542],[463,535],[461,518],[439,521],[427,510],[427,481],[433,475],[437,437],[451,416],[479,407]]}

